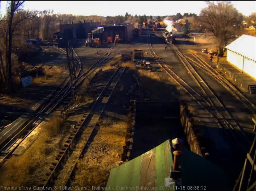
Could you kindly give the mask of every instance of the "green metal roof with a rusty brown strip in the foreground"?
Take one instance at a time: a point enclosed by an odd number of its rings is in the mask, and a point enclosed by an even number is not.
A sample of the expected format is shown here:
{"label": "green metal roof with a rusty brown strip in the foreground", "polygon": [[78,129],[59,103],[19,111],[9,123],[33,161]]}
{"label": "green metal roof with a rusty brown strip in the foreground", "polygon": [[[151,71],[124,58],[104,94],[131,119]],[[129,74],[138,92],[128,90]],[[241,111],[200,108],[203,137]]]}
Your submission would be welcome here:
{"label": "green metal roof with a rusty brown strip in the foreground", "polygon": [[203,157],[182,148],[180,179],[170,179],[173,147],[167,140],[152,150],[114,168],[107,188],[110,190],[229,190],[222,169]]}

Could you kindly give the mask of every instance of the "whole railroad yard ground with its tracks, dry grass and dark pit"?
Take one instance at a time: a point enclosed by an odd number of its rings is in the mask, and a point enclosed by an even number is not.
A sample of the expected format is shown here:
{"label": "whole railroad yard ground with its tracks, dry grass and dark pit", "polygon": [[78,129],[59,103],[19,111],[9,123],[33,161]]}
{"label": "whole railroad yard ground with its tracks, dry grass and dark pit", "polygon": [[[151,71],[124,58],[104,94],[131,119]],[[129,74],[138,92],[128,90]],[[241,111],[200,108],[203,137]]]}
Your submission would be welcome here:
{"label": "whole railroad yard ground with its tracks, dry grass and dark pit", "polygon": [[[179,138],[182,147],[220,167],[233,188],[255,141],[255,93],[220,69],[216,55],[211,62],[204,43],[179,34],[166,43],[165,28],[140,30],[136,37],[120,34],[124,43],[97,48],[74,39],[67,47],[60,41],[42,47],[29,65],[44,75],[37,73],[16,93],[0,94],[0,186],[104,190],[112,169]],[[139,49],[143,57],[136,60]],[[150,169],[150,161],[142,164]]]}

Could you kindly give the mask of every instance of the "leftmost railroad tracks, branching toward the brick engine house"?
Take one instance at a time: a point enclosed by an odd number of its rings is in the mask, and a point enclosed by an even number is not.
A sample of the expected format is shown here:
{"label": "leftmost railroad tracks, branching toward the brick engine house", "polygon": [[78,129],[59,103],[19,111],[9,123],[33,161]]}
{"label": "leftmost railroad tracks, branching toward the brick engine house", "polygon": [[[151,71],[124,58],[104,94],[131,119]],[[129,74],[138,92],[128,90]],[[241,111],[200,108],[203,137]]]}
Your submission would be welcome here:
{"label": "leftmost railroad tracks, branching toward the brick engine house", "polygon": [[[77,87],[82,83],[82,81],[90,76],[91,73],[95,72],[97,68],[99,68],[101,65],[105,64],[109,60],[111,60],[114,56],[117,54],[125,51],[127,48],[130,48],[136,44],[136,41],[132,44],[128,45],[127,47],[121,48],[114,54],[111,54],[113,50],[117,47],[108,48],[107,52],[95,63],[93,64],[86,72],[82,70],[82,63],[79,60],[79,57],[75,53],[76,58],[76,66],[75,69],[77,70],[77,66],[79,64],[79,72],[76,74],[75,81],[73,82],[74,87]],[[65,50],[58,48],[59,51],[66,53]],[[78,63],[78,64],[77,64]],[[21,129],[17,128],[14,133],[12,133],[12,138],[10,138],[10,135],[2,136],[1,139],[3,139],[4,146],[0,149],[0,165],[7,160],[12,153],[15,151],[15,149],[26,139],[26,137],[36,128],[38,125],[49,115],[52,111],[55,110],[55,108],[62,102],[70,93],[72,92],[71,85],[68,85],[68,82],[70,81],[70,77],[67,77],[64,79],[64,81],[59,85],[59,87],[54,91],[53,94],[51,94],[48,98],[46,98],[46,101],[42,103],[41,110],[36,116],[32,116],[29,118],[29,120],[26,122],[27,125]],[[69,101],[72,102],[72,98],[69,98]]]}

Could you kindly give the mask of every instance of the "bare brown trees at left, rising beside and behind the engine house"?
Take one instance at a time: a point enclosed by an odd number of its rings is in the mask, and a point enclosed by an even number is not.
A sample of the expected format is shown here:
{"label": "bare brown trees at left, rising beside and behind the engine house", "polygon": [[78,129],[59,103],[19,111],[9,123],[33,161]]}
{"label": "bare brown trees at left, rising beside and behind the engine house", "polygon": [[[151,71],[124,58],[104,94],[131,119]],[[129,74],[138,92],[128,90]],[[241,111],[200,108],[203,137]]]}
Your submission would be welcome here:
{"label": "bare brown trees at left, rising beside and behind the engine house", "polygon": [[7,1],[7,11],[5,15],[0,15],[0,90],[8,92],[12,91],[13,69],[19,65],[15,49],[24,46],[25,39],[52,40],[60,24],[83,20],[102,21],[102,16],[54,14],[53,10],[23,10],[24,2]]}

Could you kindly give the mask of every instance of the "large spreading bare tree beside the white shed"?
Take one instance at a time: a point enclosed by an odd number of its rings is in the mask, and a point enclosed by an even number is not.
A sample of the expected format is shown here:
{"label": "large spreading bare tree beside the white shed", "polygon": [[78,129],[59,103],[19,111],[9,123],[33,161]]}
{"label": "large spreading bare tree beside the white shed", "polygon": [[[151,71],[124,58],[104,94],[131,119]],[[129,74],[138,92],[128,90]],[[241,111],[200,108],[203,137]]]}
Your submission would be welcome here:
{"label": "large spreading bare tree beside the white shed", "polygon": [[238,11],[233,7],[231,1],[206,1],[208,7],[201,10],[201,21],[203,27],[216,37],[220,56],[223,56],[224,47],[231,39],[231,32],[234,31],[234,22],[238,17]]}

